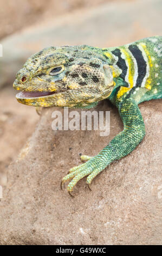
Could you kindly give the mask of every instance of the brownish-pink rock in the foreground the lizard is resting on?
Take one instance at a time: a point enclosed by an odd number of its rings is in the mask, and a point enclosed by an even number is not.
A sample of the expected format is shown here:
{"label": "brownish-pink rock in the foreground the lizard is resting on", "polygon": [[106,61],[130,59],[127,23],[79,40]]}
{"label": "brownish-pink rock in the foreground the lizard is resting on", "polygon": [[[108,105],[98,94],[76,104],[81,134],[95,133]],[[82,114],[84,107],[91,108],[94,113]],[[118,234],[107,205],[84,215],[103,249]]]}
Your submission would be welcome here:
{"label": "brownish-pink rock in the foreground the lizard is resting on", "polygon": [[160,245],[161,109],[160,100],[140,104],[144,140],[96,176],[92,191],[82,179],[74,198],[61,191],[62,177],[80,164],[80,153],[97,154],[122,130],[119,114],[107,101],[95,108],[111,111],[110,135],[100,137],[99,131],[53,131],[51,113],[60,109],[43,109],[9,167],[0,202],[1,245]]}

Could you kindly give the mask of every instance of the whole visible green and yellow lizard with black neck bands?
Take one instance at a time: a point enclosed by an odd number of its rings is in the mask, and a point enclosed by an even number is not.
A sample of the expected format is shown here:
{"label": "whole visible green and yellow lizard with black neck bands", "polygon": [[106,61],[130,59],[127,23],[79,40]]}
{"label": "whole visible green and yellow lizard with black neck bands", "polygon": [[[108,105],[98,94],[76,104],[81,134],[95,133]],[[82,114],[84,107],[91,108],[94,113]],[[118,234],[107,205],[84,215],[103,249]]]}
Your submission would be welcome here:
{"label": "whole visible green and yellow lizard with black neck bands", "polygon": [[114,160],[132,152],[145,136],[138,104],[161,99],[161,36],[132,44],[97,48],[87,45],[49,47],[31,56],[18,71],[14,88],[18,102],[35,107],[90,108],[103,99],[117,108],[124,130],[94,157],[69,170],[61,185],[68,192],[87,176],[94,177]]}

